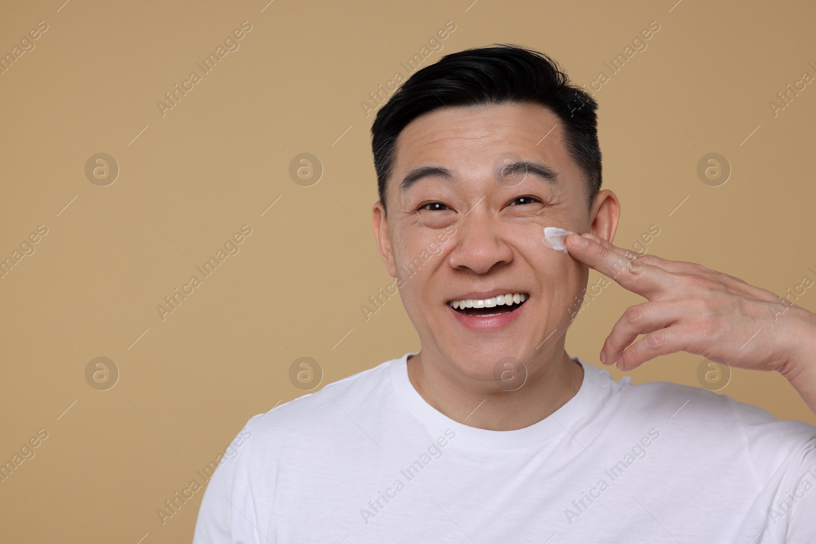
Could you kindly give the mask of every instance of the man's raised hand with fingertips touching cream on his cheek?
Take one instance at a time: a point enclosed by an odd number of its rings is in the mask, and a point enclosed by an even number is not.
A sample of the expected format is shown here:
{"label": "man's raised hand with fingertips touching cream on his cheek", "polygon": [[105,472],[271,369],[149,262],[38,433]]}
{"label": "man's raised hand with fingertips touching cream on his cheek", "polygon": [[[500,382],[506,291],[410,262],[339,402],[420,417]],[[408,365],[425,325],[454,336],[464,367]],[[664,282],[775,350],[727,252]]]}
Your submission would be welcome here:
{"label": "man's raised hand with fingertips touching cream on his cheek", "polygon": [[[648,299],[627,308],[614,324],[601,349],[604,365],[631,370],[657,356],[689,352],[742,369],[776,370],[792,383],[807,374],[803,381],[812,386],[813,313],[734,276],[623,250],[592,234],[570,234],[566,248],[574,259]],[[645,336],[630,345],[639,334]]]}

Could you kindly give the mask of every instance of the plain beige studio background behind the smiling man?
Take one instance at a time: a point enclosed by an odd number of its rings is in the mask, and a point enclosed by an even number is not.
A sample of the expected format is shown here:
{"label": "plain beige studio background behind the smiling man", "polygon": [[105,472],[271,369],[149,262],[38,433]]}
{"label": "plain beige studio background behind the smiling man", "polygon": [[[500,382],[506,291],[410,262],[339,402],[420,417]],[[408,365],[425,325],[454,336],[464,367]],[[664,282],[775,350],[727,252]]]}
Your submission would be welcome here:
{"label": "plain beige studio background behind the smiling man", "polygon": [[[62,2],[0,5],[0,53],[48,25],[0,75],[0,258],[48,229],[0,280],[0,462],[48,433],[0,483],[3,542],[188,542],[202,491],[165,524],[157,509],[202,481],[248,418],[304,394],[295,359],[317,360],[325,385],[418,348],[398,299],[361,312],[392,281],[371,236],[374,115],[361,102],[449,20],[425,64],[514,42],[585,85],[658,21],[596,94],[604,187],[623,203],[616,244],[654,224],[648,249],[667,259],[777,294],[816,280],[816,89],[769,107],[816,76],[813,2]],[[239,49],[162,117],[157,101],[245,20]],[[118,162],[107,187],[86,178],[95,153]],[[290,179],[299,153],[325,170],[311,187]],[[733,169],[720,187],[698,179],[707,153]],[[162,321],[157,305],[245,224],[240,252]],[[797,303],[816,310],[812,291]],[[634,303],[618,285],[585,303],[570,355],[600,365]],[[120,373],[106,391],[85,378],[98,356]],[[630,374],[698,386],[701,360]],[[816,422],[779,375],[735,370],[721,392]]]}

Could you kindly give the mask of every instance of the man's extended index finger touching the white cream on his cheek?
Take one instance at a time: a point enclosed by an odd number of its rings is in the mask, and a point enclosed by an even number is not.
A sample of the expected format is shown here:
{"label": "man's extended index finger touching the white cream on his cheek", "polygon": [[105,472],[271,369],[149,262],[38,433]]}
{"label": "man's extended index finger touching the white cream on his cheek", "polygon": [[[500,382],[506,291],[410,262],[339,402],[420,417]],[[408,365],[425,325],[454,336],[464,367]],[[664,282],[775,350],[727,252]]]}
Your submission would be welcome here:
{"label": "man's extended index finger touching the white cream on his cheek", "polygon": [[[609,276],[624,289],[651,300],[654,295],[671,288],[672,272],[643,262],[639,259],[641,254],[635,251],[623,250],[609,242],[606,244],[610,247],[606,247],[601,242],[578,234],[570,234],[565,241],[565,246],[574,259]],[[586,245],[583,245],[583,241],[586,241]]]}

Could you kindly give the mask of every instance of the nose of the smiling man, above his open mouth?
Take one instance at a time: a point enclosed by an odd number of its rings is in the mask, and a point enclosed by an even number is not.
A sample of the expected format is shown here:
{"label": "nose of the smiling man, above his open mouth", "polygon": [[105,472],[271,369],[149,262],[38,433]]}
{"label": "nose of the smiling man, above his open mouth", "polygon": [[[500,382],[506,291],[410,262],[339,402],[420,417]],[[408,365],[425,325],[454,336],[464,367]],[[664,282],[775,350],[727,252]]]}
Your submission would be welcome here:
{"label": "nose of the smiling man, above his open mouth", "polygon": [[512,260],[512,250],[503,239],[503,230],[484,201],[459,221],[456,245],[450,252],[450,266],[485,274]]}

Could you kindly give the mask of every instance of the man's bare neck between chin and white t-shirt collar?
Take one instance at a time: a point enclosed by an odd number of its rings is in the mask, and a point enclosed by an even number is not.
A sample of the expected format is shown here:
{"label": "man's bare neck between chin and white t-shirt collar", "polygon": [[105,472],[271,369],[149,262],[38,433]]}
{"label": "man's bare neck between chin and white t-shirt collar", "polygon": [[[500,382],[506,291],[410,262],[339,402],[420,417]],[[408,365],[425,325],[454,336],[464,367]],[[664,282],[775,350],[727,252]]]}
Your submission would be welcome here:
{"label": "man's bare neck between chin and white t-shirt collar", "polygon": [[527,365],[526,381],[515,391],[464,375],[441,356],[426,352],[409,358],[410,383],[429,405],[469,427],[490,431],[529,427],[565,405],[583,382],[583,368],[570,359],[563,344]]}

